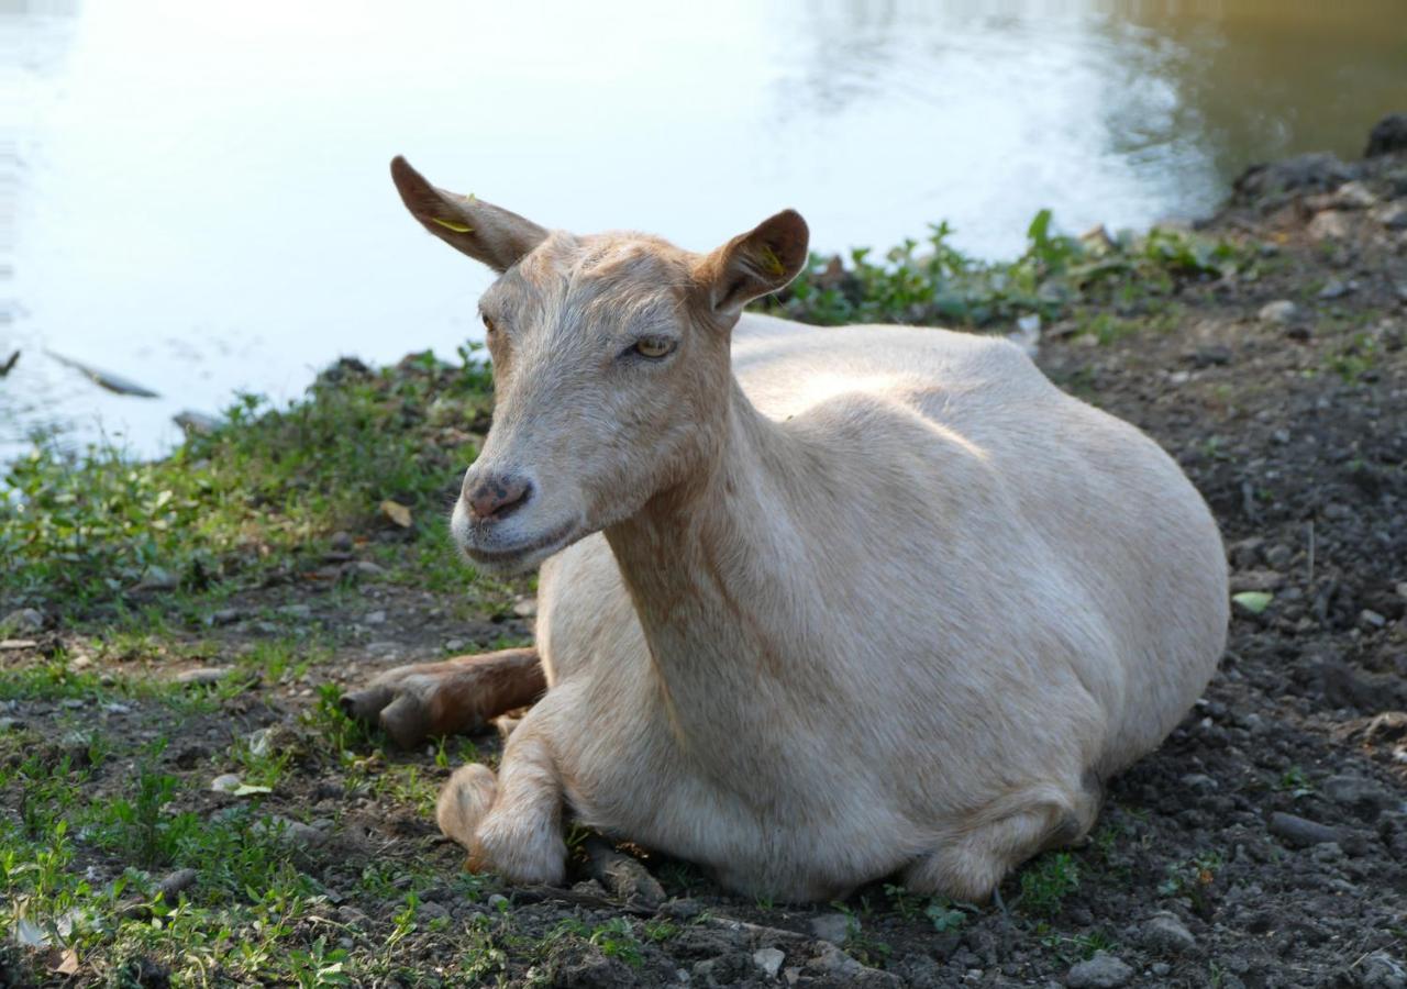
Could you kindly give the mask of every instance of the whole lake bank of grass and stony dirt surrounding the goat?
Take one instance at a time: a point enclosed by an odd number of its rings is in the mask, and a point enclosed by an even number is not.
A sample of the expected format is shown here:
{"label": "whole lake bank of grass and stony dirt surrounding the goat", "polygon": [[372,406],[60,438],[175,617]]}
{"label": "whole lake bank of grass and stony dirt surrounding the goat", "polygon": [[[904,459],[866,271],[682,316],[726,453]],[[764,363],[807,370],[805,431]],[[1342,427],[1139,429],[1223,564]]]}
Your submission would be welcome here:
{"label": "whole lake bank of grass and stony dirt surrounding the goat", "polygon": [[[1396,129],[1394,129],[1396,128]],[[438,786],[492,733],[398,751],[339,695],[523,643],[445,509],[491,416],[476,355],[343,360],[153,463],[17,464],[0,506],[0,886],[13,983],[1403,985],[1407,120],[1372,158],[1245,174],[1189,229],[817,259],[771,307],[1013,335],[1150,432],[1225,536],[1223,668],[1006,910],[469,876]],[[817,331],[823,332],[823,331]],[[574,841],[580,834],[574,836]],[[598,860],[599,861],[599,860]]]}

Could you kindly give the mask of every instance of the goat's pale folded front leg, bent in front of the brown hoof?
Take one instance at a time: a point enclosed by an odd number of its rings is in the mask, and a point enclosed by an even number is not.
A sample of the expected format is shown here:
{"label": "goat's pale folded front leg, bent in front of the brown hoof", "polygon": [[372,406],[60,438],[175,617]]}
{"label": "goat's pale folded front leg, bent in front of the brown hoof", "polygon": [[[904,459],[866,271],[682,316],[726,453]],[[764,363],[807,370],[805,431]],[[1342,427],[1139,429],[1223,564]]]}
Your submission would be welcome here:
{"label": "goat's pale folded front leg, bent in front of the brown hoof", "polygon": [[560,885],[567,874],[561,803],[556,761],[529,715],[508,740],[498,778],[487,765],[460,767],[440,792],[436,817],[469,850],[473,871]]}

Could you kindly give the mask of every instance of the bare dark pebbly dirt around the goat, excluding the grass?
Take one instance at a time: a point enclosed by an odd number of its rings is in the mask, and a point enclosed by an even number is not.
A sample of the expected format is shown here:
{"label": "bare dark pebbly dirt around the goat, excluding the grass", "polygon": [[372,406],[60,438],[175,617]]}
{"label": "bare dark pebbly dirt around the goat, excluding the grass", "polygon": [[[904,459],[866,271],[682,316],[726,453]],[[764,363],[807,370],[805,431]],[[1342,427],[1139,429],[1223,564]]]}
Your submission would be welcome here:
{"label": "bare dark pebbly dirt around the goat, excluding the grass", "polygon": [[[75,715],[110,734],[165,733],[170,771],[197,781],[231,770],[221,753],[232,739],[279,727],[294,760],[262,806],[331,822],[298,858],[333,893],[322,923],[353,948],[383,943],[405,883],[380,895],[362,879],[384,864],[415,876],[422,903],[449,919],[402,941],[415,964],[381,985],[433,983],[436,958],[473,947],[485,959],[476,978],[507,985],[1407,986],[1407,212],[1399,210],[1407,211],[1403,155],[1262,172],[1203,225],[1262,245],[1255,280],[1183,287],[1172,332],[1100,345],[1074,325],[1047,328],[1045,371],[1162,443],[1221,525],[1233,591],[1272,596],[1259,613],[1235,606],[1206,696],[1155,754],[1112,782],[1093,838],[1007,879],[1005,909],[934,905],[884,883],[843,905],[740,900],[639,850],[629,851],[663,885],[663,903],[636,893],[623,905],[616,898],[629,891],[584,851],[566,891],[464,886],[461,855],[438,837],[426,808],[349,784],[305,715],[322,681],[353,688],[393,664],[521,642],[530,606],[464,622],[452,594],[374,578],[312,596],[252,591],[231,602],[228,623],[186,632],[208,643],[207,664],[234,661],[273,627],[260,609],[288,601],[311,611],[276,626],[322,629],[331,658],[287,682],[257,684],[204,719],[144,701],[125,709],[21,701],[0,713],[51,746],[63,744],[59,726]],[[1278,301],[1294,312],[1261,315]],[[86,649],[65,632],[35,637],[35,650],[0,661],[14,667],[61,643]],[[117,668],[121,657],[94,663]],[[162,677],[180,668],[152,667]],[[480,757],[497,751],[491,733],[476,744]],[[449,774],[433,747],[362,755],[373,774],[414,765],[431,786]],[[117,792],[129,771],[108,764],[93,786]],[[183,809],[212,813],[241,799],[201,791]],[[100,854],[84,861],[96,879],[122,865]],[[507,902],[490,903],[491,895]],[[635,945],[623,951],[609,934],[622,920]]]}

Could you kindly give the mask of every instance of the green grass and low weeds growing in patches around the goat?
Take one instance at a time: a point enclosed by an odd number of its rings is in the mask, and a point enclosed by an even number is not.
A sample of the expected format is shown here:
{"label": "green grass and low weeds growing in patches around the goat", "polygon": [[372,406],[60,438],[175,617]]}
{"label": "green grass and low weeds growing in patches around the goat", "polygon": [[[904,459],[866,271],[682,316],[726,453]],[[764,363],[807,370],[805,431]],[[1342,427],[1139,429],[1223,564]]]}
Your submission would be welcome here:
{"label": "green grass and low weeds growing in patches around the goat", "polygon": [[[1259,263],[1254,252],[1173,231],[1069,238],[1048,212],[1027,235],[1026,252],[1010,263],[964,256],[944,225],[882,255],[812,257],[758,308],[813,324],[998,331],[1034,314],[1113,343],[1166,331],[1186,283],[1252,277]],[[1361,376],[1372,356],[1369,340],[1354,339],[1334,370]],[[1072,371],[1067,384],[1093,393],[1092,374]],[[260,608],[248,615],[259,634],[234,656],[212,627],[219,611],[239,606],[253,588],[286,588],[297,604],[317,591],[328,611],[343,613],[369,611],[364,584],[378,581],[453,591],[452,616],[480,625],[509,616],[514,592],[530,584],[476,575],[445,525],[491,402],[491,376],[470,349],[454,362],[426,353],[383,370],[340,362],[286,407],[241,398],[221,428],[190,436],[160,461],[48,442],[8,467],[0,487],[0,616],[38,608],[69,644],[45,644],[41,660],[0,670],[0,702],[52,705],[51,725],[77,730],[58,740],[0,734],[0,803],[13,808],[0,813],[0,941],[23,926],[45,944],[76,950],[84,978],[114,986],[159,981],[153,971],[177,985],[477,985],[505,978],[509,959],[528,958],[547,974],[553,952],[568,950],[636,968],[653,945],[681,933],[664,920],[629,917],[525,930],[507,906],[450,929],[425,895],[453,883],[456,899],[480,902],[494,889],[491,878],[450,879],[432,847],[415,838],[397,843],[402,857],[378,847],[348,861],[318,858],[280,820],[303,813],[280,803],[280,791],[298,772],[314,772],[338,806],[391,809],[412,834],[421,826],[429,833],[443,775],[466,761],[497,760],[495,744],[461,739],[442,743],[432,765],[416,764],[349,719],[338,685],[318,682],[339,642],[321,608]],[[386,501],[409,511],[408,528],[387,516]],[[355,559],[376,566],[328,567],[336,533],[350,533]],[[336,544],[345,554],[345,540]],[[77,654],[73,630],[87,633],[91,656]],[[497,644],[522,643],[505,636]],[[174,685],[165,675],[174,664],[205,663],[234,670],[207,685]],[[291,739],[253,730],[266,717],[245,717],[266,703],[267,687],[308,695],[276,729]],[[110,737],[94,723],[114,705],[135,708],[129,723],[146,737]],[[228,733],[201,748],[194,767],[173,768],[166,740],[207,719]],[[252,789],[208,793],[210,778],[224,772]],[[340,829],[343,812],[328,813]],[[160,878],[182,868],[194,868],[197,879],[162,893]],[[1196,891],[1203,871],[1190,868],[1169,872],[1176,892],[1188,883]],[[1058,914],[1079,869],[1069,854],[1029,865],[1019,881],[1024,923]],[[666,862],[660,878],[680,895],[706,888],[682,862]],[[929,937],[961,931],[979,913],[899,888],[885,896]],[[336,910],[343,900],[376,916],[348,921]],[[850,917],[846,950],[884,965],[891,947],[870,930],[868,900],[864,924],[851,907],[840,909]],[[1099,945],[1057,947],[1083,957]]]}

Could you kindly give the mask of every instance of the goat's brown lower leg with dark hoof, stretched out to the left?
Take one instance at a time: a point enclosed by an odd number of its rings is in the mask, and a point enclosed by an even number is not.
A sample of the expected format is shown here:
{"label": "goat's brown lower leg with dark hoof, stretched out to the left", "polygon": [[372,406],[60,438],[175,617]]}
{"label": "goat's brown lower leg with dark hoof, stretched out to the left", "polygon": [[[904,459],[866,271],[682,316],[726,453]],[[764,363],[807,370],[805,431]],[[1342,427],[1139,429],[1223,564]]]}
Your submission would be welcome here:
{"label": "goat's brown lower leg with dark hoof, stretched out to the left", "polygon": [[342,698],[343,709],[380,723],[397,744],[480,727],[543,695],[547,681],[536,649],[456,656],[387,670],[364,689]]}

